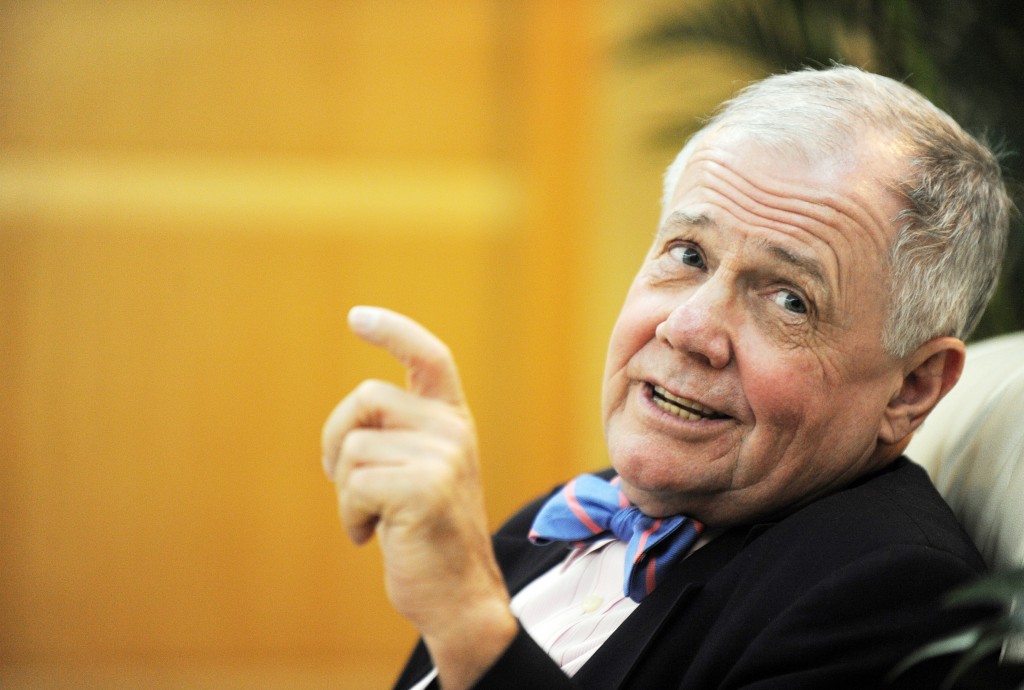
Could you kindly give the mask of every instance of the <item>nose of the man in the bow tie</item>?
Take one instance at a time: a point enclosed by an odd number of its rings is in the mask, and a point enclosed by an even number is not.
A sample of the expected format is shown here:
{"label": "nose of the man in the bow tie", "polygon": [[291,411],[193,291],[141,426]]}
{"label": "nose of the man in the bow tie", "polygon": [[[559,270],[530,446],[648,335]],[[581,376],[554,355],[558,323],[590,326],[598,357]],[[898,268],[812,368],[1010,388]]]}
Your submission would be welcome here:
{"label": "nose of the man in the bow tie", "polygon": [[654,335],[673,349],[722,369],[732,361],[730,304],[725,286],[711,279],[674,306]]}

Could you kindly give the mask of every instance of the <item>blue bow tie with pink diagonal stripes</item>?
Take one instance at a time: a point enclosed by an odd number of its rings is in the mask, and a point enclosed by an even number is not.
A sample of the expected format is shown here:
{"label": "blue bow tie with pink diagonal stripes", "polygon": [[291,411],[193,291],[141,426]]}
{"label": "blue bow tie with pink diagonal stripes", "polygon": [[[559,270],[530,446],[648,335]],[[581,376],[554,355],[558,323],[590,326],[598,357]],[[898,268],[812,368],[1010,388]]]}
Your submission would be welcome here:
{"label": "blue bow tie with pink diagonal stripes", "polygon": [[683,515],[648,517],[617,485],[583,474],[544,504],[529,541],[584,545],[610,532],[627,543],[623,591],[639,602],[654,590],[666,569],[689,552],[702,530],[703,525]]}

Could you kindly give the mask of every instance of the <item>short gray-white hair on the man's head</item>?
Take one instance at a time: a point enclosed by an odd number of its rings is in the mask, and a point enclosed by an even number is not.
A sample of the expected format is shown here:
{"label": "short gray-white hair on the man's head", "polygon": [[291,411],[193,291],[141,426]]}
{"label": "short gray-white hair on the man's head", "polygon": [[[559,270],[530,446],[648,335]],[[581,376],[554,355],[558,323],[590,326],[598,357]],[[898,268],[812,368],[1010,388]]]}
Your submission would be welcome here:
{"label": "short gray-white hair on the man's head", "polygon": [[710,132],[741,128],[772,149],[849,155],[881,135],[903,159],[889,187],[906,201],[891,219],[887,352],[902,357],[978,325],[1006,252],[1012,202],[988,147],[913,89],[838,66],[776,75],[741,90],[686,143],[665,174],[663,216],[690,155]]}

